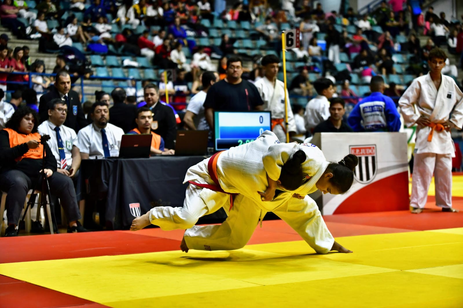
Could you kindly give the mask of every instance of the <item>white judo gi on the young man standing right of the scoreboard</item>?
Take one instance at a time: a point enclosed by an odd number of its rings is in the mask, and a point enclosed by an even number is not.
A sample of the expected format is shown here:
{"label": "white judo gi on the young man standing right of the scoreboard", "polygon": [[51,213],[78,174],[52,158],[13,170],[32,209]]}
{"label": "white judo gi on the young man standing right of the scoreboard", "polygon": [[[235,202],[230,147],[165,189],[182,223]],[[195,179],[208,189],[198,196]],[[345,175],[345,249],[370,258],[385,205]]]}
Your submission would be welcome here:
{"label": "white judo gi on the young man standing right of the scoreboard", "polygon": [[[264,110],[272,112],[272,131],[280,142],[287,142],[285,131],[285,84],[281,80],[275,80],[275,87],[272,82],[263,77],[254,83],[257,91],[263,100]],[[293,110],[289,103],[289,94],[286,90],[288,101],[288,132],[296,132],[296,122],[294,121]]]}

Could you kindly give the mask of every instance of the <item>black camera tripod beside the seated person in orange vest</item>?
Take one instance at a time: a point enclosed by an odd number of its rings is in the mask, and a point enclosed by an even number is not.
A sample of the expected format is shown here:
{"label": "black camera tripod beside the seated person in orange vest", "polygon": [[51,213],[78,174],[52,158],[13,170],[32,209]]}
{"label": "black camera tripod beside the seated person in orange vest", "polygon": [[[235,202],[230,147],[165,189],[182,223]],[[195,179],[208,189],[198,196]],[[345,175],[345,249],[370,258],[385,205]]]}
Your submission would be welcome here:
{"label": "black camera tripod beside the seated person in orange vest", "polygon": [[[55,209],[53,205],[53,199],[51,198],[51,193],[50,193],[50,185],[48,183],[48,178],[47,174],[45,173],[45,144],[47,141],[50,140],[49,135],[44,135],[40,138],[40,144],[43,145],[43,151],[42,151],[42,171],[40,172],[40,177],[42,178],[42,188],[40,191],[43,194],[43,197],[40,202],[40,206],[44,207],[47,212],[47,218],[48,218],[48,223],[50,225],[50,233],[54,234],[53,232],[53,222],[56,224],[56,217],[55,217]],[[27,206],[24,210],[24,215],[21,221],[24,222],[25,216],[27,214],[27,211],[29,210],[29,207],[32,208],[33,204],[35,204],[35,199],[37,198],[37,193],[36,191],[39,190],[39,183],[40,181],[37,181],[36,188],[32,191],[31,197],[29,197],[29,201],[27,202]],[[47,198],[48,197],[48,202]],[[38,208],[40,211],[40,207]],[[52,219],[53,218],[53,219]],[[56,231],[58,230],[58,226],[56,226]],[[18,228],[18,234],[19,234],[19,228]]]}

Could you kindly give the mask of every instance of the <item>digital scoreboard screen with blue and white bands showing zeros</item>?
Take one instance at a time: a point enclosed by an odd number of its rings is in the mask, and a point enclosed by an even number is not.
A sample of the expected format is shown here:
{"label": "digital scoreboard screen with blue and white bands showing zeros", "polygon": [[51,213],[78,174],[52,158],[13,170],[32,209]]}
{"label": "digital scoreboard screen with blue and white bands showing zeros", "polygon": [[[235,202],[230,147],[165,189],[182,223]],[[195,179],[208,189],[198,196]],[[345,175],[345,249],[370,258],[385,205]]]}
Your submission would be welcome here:
{"label": "digital scoreboard screen with blue and white bands showing zeros", "polygon": [[229,148],[256,140],[271,127],[270,111],[214,111],[215,150]]}

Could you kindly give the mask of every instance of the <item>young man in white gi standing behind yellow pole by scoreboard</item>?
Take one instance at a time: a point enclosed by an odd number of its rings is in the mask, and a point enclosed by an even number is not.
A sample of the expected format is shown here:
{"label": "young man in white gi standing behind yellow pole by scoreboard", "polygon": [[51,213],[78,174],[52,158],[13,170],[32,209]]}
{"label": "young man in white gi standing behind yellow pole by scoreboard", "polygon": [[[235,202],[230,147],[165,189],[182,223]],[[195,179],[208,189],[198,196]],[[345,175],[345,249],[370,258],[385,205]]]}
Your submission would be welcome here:
{"label": "young man in white gi standing behind yellow pole by scoreboard", "polygon": [[286,104],[288,105],[288,132],[290,138],[296,134],[296,122],[289,103],[288,90],[281,80],[276,79],[279,63],[280,60],[276,55],[264,56],[261,60],[264,77],[257,80],[254,86],[257,87],[257,91],[259,91],[263,100],[264,110],[272,112],[272,131],[280,142],[289,142],[289,140],[286,140],[285,91],[288,99]]}

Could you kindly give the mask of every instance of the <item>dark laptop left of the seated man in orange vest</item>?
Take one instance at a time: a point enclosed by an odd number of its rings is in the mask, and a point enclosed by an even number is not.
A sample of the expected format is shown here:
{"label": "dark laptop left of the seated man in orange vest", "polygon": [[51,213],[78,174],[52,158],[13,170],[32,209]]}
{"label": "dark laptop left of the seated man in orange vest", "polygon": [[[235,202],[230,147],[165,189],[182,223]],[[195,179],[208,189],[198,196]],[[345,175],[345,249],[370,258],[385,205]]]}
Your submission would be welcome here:
{"label": "dark laptop left of the seated man in orange vest", "polygon": [[120,158],[148,158],[151,149],[151,134],[122,135],[120,141]]}

